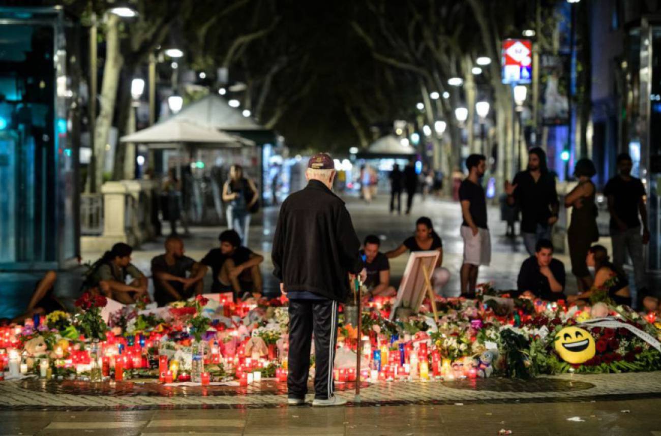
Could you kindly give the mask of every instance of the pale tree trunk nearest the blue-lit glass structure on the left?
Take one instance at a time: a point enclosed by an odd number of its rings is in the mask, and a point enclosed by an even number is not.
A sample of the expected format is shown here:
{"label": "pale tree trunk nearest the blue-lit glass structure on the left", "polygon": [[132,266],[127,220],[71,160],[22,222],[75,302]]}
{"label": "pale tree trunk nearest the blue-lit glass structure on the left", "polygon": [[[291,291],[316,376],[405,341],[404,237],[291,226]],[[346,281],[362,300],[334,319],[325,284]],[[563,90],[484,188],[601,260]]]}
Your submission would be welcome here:
{"label": "pale tree trunk nearest the blue-lit glass structure on the left", "polygon": [[117,87],[119,84],[120,71],[122,71],[122,55],[120,54],[120,38],[118,30],[119,17],[108,14],[106,22],[106,60],[103,67],[103,83],[100,94],[100,112],[98,114],[96,131],[94,135],[94,155],[96,159],[95,187],[100,190],[103,183],[103,168],[106,156],[106,144],[112,126],[115,102],[117,98]]}

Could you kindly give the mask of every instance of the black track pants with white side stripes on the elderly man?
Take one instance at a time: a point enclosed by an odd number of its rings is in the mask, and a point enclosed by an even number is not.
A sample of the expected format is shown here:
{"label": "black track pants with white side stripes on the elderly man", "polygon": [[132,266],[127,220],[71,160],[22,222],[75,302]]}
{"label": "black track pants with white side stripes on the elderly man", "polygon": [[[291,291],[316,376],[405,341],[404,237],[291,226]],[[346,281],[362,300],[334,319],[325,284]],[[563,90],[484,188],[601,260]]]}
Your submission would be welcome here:
{"label": "black track pants with white side stripes on the elderly man", "polygon": [[310,346],[315,333],[315,398],[332,396],[332,364],[337,340],[337,301],[290,300],[289,398],[305,398]]}

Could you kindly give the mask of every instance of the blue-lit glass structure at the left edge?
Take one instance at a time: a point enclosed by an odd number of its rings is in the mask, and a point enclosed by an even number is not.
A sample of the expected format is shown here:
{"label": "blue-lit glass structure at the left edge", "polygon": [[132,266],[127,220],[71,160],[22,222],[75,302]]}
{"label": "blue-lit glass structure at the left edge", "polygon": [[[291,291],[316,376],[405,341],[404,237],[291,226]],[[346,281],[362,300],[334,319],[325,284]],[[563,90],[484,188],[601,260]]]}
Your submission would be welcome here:
{"label": "blue-lit glass structure at the left edge", "polygon": [[77,31],[58,7],[0,8],[2,270],[79,254]]}

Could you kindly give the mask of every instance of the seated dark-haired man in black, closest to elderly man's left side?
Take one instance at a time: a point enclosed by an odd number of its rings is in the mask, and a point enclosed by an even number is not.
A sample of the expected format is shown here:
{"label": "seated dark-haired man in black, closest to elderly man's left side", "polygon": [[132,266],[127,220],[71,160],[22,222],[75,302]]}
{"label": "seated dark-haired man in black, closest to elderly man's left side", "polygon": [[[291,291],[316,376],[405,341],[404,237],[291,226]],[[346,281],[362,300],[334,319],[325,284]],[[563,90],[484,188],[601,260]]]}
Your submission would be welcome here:
{"label": "seated dark-haired man in black, closest to elderly man's left side", "polygon": [[264,257],[241,245],[241,237],[234,230],[226,230],[218,237],[220,248],[204,256],[202,264],[212,268],[212,292],[233,292],[235,299],[262,296],[262,273],[259,264]]}

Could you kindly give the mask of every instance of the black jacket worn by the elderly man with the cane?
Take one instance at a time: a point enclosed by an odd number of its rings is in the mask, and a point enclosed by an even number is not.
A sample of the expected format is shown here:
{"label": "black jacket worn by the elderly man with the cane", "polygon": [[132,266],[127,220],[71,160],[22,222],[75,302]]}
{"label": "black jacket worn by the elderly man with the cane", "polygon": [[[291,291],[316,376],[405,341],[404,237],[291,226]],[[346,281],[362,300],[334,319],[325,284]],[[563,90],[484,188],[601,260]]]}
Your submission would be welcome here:
{"label": "black jacket worn by the elderly man with the cane", "polygon": [[359,250],[344,201],[322,182],[310,180],[282,203],[271,258],[287,291],[343,301],[348,273],[362,270]]}

